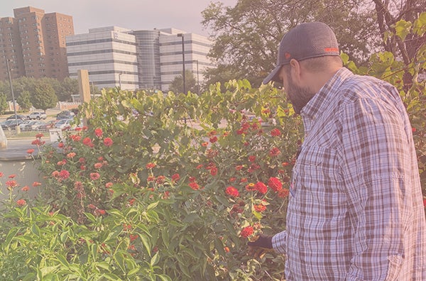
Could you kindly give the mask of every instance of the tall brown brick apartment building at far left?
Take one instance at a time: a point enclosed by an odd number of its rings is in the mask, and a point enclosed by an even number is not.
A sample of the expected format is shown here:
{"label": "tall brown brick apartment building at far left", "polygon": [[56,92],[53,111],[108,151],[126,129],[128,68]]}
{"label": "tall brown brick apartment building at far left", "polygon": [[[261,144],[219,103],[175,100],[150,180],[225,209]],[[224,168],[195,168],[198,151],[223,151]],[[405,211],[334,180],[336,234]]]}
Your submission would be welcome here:
{"label": "tall brown brick apartment building at far left", "polygon": [[13,18],[0,18],[0,79],[68,77],[65,37],[74,34],[72,16],[45,13],[31,6],[13,9]]}

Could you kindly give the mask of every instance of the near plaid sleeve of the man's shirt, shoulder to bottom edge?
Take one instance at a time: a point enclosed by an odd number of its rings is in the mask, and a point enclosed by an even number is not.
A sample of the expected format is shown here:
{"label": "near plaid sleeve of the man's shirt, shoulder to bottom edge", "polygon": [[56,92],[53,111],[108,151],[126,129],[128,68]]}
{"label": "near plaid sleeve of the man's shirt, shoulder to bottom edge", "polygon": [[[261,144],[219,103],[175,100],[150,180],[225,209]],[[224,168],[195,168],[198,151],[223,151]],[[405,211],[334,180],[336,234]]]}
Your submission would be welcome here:
{"label": "near plaid sleeve of the man's shirt, shoulder to bottom edge", "polygon": [[408,120],[392,104],[358,99],[342,110],[342,176],[353,227],[346,280],[396,280],[410,204]]}

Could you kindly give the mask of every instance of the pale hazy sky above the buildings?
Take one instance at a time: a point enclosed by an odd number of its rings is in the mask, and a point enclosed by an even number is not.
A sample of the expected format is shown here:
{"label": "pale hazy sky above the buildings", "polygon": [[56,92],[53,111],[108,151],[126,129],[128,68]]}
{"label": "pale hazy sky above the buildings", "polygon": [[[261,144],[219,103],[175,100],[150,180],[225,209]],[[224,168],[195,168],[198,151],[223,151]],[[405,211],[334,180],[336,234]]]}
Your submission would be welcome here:
{"label": "pale hazy sky above the buildings", "polygon": [[[235,6],[237,0],[213,0]],[[89,28],[119,26],[134,30],[178,28],[209,35],[201,25],[201,12],[211,0],[0,0],[0,17],[13,17],[13,9],[33,6],[45,13],[72,16],[75,34]]]}

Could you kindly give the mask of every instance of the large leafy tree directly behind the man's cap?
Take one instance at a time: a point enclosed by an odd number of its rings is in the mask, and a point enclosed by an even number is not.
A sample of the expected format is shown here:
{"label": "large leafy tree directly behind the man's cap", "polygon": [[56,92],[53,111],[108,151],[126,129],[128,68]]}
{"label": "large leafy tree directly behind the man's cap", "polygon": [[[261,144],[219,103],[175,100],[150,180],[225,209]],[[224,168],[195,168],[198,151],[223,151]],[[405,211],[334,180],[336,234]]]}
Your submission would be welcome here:
{"label": "large leafy tree directly behind the man's cap", "polygon": [[342,51],[364,63],[380,47],[374,40],[380,35],[375,13],[366,9],[366,2],[239,0],[234,7],[212,3],[202,12],[202,24],[214,38],[209,56],[217,65],[239,70],[230,78],[249,79],[256,87],[273,70],[283,35],[298,23],[322,21],[336,31]]}

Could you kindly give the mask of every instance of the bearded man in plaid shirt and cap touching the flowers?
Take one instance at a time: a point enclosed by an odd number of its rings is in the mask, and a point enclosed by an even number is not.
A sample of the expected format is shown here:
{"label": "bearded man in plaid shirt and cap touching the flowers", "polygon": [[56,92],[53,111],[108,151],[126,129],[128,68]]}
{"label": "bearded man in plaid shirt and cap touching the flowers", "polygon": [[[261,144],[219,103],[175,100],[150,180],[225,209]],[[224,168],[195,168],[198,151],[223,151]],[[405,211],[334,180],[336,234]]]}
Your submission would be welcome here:
{"label": "bearded man in plaid shirt and cap touching the flowers", "polygon": [[263,83],[282,82],[305,125],[286,230],[286,280],[426,280],[426,222],[412,128],[398,91],[342,67],[324,23],[281,40]]}

